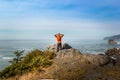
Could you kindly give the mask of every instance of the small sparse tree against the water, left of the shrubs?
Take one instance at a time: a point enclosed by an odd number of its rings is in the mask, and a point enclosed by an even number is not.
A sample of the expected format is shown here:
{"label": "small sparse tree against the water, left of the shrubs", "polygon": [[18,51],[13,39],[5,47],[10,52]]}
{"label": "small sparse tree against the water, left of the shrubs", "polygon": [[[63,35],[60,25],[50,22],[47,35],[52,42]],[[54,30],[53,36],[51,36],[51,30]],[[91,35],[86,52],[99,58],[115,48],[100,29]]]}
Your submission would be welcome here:
{"label": "small sparse tree against the water, left of the shrubs", "polygon": [[15,63],[18,63],[18,62],[20,62],[21,60],[22,60],[22,55],[23,55],[23,53],[24,53],[24,51],[25,50],[22,50],[22,51],[19,51],[19,50],[17,50],[17,51],[15,51],[13,54],[16,56],[15,58],[13,58],[11,61],[9,61],[10,63],[12,63],[12,64],[15,64]]}

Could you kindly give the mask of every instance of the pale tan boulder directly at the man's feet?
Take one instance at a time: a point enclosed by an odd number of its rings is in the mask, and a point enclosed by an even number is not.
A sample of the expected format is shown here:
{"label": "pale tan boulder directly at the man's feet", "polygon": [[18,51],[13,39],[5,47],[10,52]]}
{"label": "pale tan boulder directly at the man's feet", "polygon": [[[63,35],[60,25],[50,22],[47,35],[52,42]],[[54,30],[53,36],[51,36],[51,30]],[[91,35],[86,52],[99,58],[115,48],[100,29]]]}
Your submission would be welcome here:
{"label": "pale tan boulder directly at the man's feet", "polygon": [[79,57],[82,54],[77,49],[63,49],[56,53],[56,58],[72,58],[72,57]]}

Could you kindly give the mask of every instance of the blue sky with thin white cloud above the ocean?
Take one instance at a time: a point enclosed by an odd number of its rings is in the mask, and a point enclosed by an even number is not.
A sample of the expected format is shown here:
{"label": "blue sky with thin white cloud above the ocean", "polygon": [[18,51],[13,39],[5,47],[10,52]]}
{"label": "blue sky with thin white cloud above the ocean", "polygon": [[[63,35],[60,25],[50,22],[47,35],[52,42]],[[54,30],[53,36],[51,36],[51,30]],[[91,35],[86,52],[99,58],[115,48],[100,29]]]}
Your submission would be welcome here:
{"label": "blue sky with thin white cloud above the ocean", "polygon": [[120,34],[120,0],[0,0],[0,39],[97,39]]}

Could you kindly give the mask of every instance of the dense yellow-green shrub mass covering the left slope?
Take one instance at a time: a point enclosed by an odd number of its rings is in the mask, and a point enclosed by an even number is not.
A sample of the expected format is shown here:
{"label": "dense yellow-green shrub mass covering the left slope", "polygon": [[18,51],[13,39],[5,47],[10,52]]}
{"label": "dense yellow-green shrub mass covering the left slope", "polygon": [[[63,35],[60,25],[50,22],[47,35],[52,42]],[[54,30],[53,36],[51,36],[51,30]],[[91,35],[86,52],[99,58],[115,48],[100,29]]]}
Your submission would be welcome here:
{"label": "dense yellow-green shrub mass covering the left slope", "polygon": [[33,50],[19,62],[12,63],[0,72],[1,78],[8,78],[15,75],[22,75],[26,72],[39,70],[52,64],[51,59],[55,53],[49,51]]}

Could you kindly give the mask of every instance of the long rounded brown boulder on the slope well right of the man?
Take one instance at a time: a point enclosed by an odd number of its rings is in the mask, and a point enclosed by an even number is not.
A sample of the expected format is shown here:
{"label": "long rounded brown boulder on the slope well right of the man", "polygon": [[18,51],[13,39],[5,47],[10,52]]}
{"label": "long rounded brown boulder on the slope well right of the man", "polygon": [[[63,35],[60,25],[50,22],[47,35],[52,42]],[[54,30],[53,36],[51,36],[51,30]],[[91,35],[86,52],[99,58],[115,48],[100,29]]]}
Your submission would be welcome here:
{"label": "long rounded brown boulder on the slope well right of the man", "polygon": [[109,58],[105,55],[84,54],[81,62],[87,62],[95,65],[105,65],[109,62]]}

